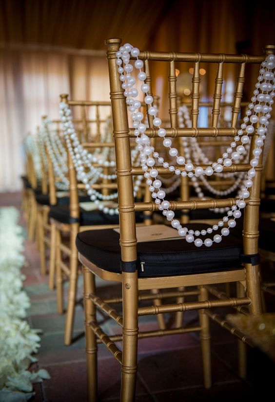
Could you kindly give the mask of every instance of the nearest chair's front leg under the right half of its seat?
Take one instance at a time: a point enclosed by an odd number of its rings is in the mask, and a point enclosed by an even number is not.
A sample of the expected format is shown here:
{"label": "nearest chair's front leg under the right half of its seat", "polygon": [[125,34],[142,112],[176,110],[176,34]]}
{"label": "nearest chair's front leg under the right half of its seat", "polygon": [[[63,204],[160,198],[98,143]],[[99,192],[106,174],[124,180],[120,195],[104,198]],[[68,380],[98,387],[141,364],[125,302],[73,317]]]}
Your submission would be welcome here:
{"label": "nearest chair's front leg under the right half of its seat", "polygon": [[[200,287],[200,301],[208,299],[208,292],[204,286]],[[211,346],[210,346],[210,328],[209,317],[205,314],[205,310],[199,310],[200,343],[202,352],[202,368],[203,382],[205,388],[210,388],[212,385],[211,375]]]}

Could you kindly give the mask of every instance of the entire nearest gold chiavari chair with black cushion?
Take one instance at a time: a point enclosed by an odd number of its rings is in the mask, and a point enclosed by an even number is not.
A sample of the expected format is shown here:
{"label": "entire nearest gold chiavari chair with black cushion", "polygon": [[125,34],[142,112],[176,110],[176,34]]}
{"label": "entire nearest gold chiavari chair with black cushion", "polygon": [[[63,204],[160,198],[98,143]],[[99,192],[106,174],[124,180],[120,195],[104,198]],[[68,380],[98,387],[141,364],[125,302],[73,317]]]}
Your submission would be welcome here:
{"label": "entire nearest gold chiavari chair with black cushion", "polygon": [[[210,199],[206,201],[174,201],[170,202],[169,207],[167,203],[162,204],[162,210],[193,210],[203,208],[216,208],[216,207],[229,207],[238,206],[240,209],[245,207],[245,216],[243,223],[243,236],[242,240],[235,237],[233,234],[227,236],[229,228],[233,228],[236,217],[239,213],[235,213],[238,208],[233,208],[232,213],[227,215],[227,218],[213,228],[207,228],[203,224],[189,224],[188,231],[179,225],[179,221],[174,222],[173,213],[169,212],[168,217],[172,219],[173,227],[179,228],[181,234],[184,234],[184,240],[163,240],[160,242],[138,242],[137,228],[135,224],[136,211],[156,211],[159,202],[143,202],[135,203],[133,197],[133,175],[142,174],[142,172],[149,171],[149,177],[153,179],[156,177],[156,171],[152,171],[149,166],[154,166],[152,160],[147,160],[146,164],[143,163],[142,168],[131,166],[130,157],[130,137],[135,136],[136,128],[129,128],[127,119],[127,105],[125,102],[123,90],[121,90],[120,74],[118,66],[121,67],[120,58],[121,53],[124,56],[131,51],[132,46],[126,44],[120,48],[121,41],[118,39],[110,39],[106,41],[107,44],[107,59],[109,64],[110,74],[110,87],[111,87],[111,102],[113,111],[113,125],[114,125],[114,141],[116,148],[116,164],[118,176],[118,208],[119,208],[119,230],[120,234],[113,230],[109,231],[87,231],[79,233],[77,236],[77,247],[79,250],[79,259],[84,266],[84,292],[85,292],[85,319],[86,319],[86,352],[87,352],[87,373],[88,373],[88,392],[89,400],[97,400],[97,337],[98,342],[104,343],[113,356],[121,363],[121,394],[120,400],[130,402],[135,400],[135,386],[137,374],[137,339],[163,336],[165,334],[183,334],[191,331],[198,331],[200,333],[201,347],[202,347],[202,367],[204,372],[204,385],[210,387],[211,379],[211,361],[210,361],[210,331],[209,331],[209,318],[214,319],[220,323],[221,326],[231,331],[237,338],[243,342],[251,343],[247,337],[244,337],[236,328],[232,327],[224,318],[218,314],[213,313],[212,309],[218,307],[235,307],[238,312],[251,314],[253,316],[262,313],[261,296],[260,296],[260,272],[258,264],[258,216],[259,216],[259,194],[260,194],[260,174],[261,174],[261,155],[256,152],[258,157],[257,166],[255,167],[253,151],[257,148],[257,144],[262,146],[262,136],[265,136],[265,128],[267,126],[267,118],[259,116],[257,133],[248,125],[242,126],[244,132],[240,132],[236,127],[238,114],[240,110],[240,101],[243,94],[243,86],[245,73],[252,64],[256,64],[257,68],[264,61],[263,56],[248,56],[248,55],[225,55],[225,54],[199,54],[199,53],[175,53],[175,52],[149,52],[142,51],[139,53],[138,49],[133,49],[133,58],[136,60],[137,68],[141,68],[144,64],[145,73],[150,77],[149,63],[166,62],[169,65],[169,101],[170,101],[170,118],[171,128],[166,128],[166,139],[169,137],[181,136],[196,136],[196,137],[218,137],[228,136],[234,137],[235,141],[239,144],[248,141],[247,133],[251,138],[251,153],[250,164],[236,164],[232,163],[230,166],[224,166],[224,171],[246,171],[248,177],[253,178],[253,187],[249,188],[250,195],[243,192],[243,199],[240,199],[236,204],[236,200],[232,198],[227,199]],[[266,54],[273,53],[274,46],[266,46]],[[125,53],[124,53],[125,52]],[[138,58],[137,58],[138,56]],[[126,59],[127,65],[127,57]],[[137,61],[139,60],[139,61]],[[142,63],[143,62],[143,63]],[[176,91],[176,74],[175,62],[193,62],[193,90],[192,90],[192,127],[178,128],[177,127],[177,91]],[[197,127],[198,116],[198,102],[199,102],[199,65],[201,62],[214,63],[217,66],[217,77],[214,92],[213,103],[213,118],[212,127]],[[233,102],[233,113],[231,127],[217,127],[217,117],[219,113],[219,105],[221,98],[221,87],[223,81],[223,65],[224,63],[232,63],[238,70],[236,77],[236,90]],[[275,66],[275,57],[269,56],[266,66]],[[269,68],[269,67],[268,67]],[[131,69],[130,67],[127,69]],[[125,69],[126,70],[126,69]],[[127,70],[128,71],[128,70]],[[262,72],[261,72],[262,73]],[[271,75],[269,75],[271,77]],[[255,78],[256,80],[256,78]],[[146,79],[145,79],[146,83]],[[150,81],[148,80],[149,88],[143,87],[144,92],[150,92]],[[260,86],[260,81],[259,85]],[[262,86],[265,88],[265,85]],[[269,86],[268,86],[269,87]],[[146,88],[146,90],[145,90]],[[259,109],[265,109],[264,100],[271,99],[269,94],[266,94],[265,89],[258,98],[253,98],[255,104],[252,105],[252,112],[254,105]],[[147,92],[148,93],[148,92]],[[130,96],[130,94],[128,94]],[[133,106],[133,100],[129,99],[128,105]],[[268,98],[269,96],[269,98]],[[152,102],[151,98],[146,99],[148,103]],[[150,100],[150,102],[149,102]],[[149,105],[151,107],[151,105]],[[261,107],[258,107],[261,106]],[[152,109],[148,109],[150,113]],[[266,112],[266,110],[265,110]],[[248,116],[254,116],[250,113]],[[261,118],[263,117],[263,118]],[[136,121],[136,120],[134,120]],[[155,126],[149,126],[149,129],[142,132],[143,144],[148,145],[148,138],[156,137],[159,126],[159,121],[155,120]],[[266,126],[265,126],[266,125]],[[139,129],[138,128],[138,129]],[[252,132],[253,131],[253,132]],[[159,134],[163,135],[163,131]],[[147,136],[144,137],[144,135]],[[169,142],[169,141],[168,141]],[[165,142],[167,145],[167,142]],[[171,147],[171,145],[170,145]],[[242,148],[239,148],[242,149]],[[258,149],[258,148],[257,148]],[[155,151],[154,151],[155,152]],[[157,154],[153,155],[157,158]],[[149,158],[148,158],[149,159]],[[253,161],[253,162],[252,162]],[[182,162],[182,161],[181,161]],[[146,169],[146,166],[148,169]],[[183,173],[195,172],[197,167],[185,166],[179,164],[175,169]],[[218,172],[219,167],[216,165],[212,168],[209,166],[201,166],[199,168],[211,168]],[[153,168],[154,169],[154,168]],[[160,174],[168,172],[168,167],[157,167]],[[191,175],[190,175],[191,176]],[[150,178],[149,178],[150,180]],[[249,179],[250,180],[250,179]],[[149,182],[151,185],[151,182]],[[159,183],[155,183],[158,188]],[[248,185],[251,184],[249,181]],[[157,190],[156,190],[157,191]],[[246,191],[246,190],[245,190]],[[249,197],[248,197],[249,195]],[[163,193],[157,195],[158,199],[163,199]],[[248,198],[247,198],[248,197]],[[242,202],[240,202],[242,201]],[[168,210],[169,208],[169,210]],[[238,210],[239,211],[239,210]],[[233,215],[233,218],[230,218]],[[235,219],[234,219],[235,218]],[[170,220],[171,220],[170,219]],[[236,222],[235,222],[236,223]],[[216,234],[215,237],[205,238],[207,233]],[[196,243],[193,241],[196,237]],[[205,233],[204,233],[205,232]],[[177,232],[176,232],[177,233]],[[209,235],[208,234],[208,235]],[[139,236],[139,234],[138,234]],[[202,239],[201,239],[202,237]],[[196,247],[197,246],[197,247]],[[96,296],[95,288],[95,275],[105,280],[115,280],[121,283],[122,287],[122,307],[123,314],[118,313],[111,303],[114,301],[110,299],[101,299]],[[238,283],[237,297],[228,298],[224,294],[218,292],[213,285],[235,282]],[[139,291],[149,290],[152,288],[157,289],[171,289],[178,288],[179,286],[199,286],[199,298],[196,302],[182,302],[161,306],[138,307]],[[168,292],[169,296],[182,296],[177,291]],[[210,297],[211,295],[211,297]],[[143,297],[144,298],[144,297]],[[159,292],[159,298],[164,299],[165,294]],[[150,295],[148,295],[150,299]],[[100,328],[96,318],[96,307],[103,310],[105,313],[112,317],[122,328],[122,335],[108,336]],[[150,314],[160,314],[177,311],[198,310],[199,311],[199,324],[195,327],[181,327],[173,328],[162,331],[150,331],[147,333],[138,332],[138,317]],[[115,344],[116,341],[122,340],[122,351],[120,351]],[[240,347],[244,352],[244,349]],[[244,353],[240,356],[243,358]],[[245,375],[245,369],[242,366],[240,375]]]}

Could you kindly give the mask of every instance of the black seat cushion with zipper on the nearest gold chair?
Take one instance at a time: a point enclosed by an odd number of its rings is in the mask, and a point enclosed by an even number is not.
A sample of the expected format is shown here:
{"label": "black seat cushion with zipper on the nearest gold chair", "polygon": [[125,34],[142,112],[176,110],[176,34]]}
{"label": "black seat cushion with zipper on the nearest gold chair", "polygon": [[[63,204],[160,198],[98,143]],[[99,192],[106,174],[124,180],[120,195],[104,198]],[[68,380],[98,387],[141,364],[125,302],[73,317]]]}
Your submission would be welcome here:
{"label": "black seat cushion with zipper on the nearest gold chair", "polygon": [[[189,229],[207,229],[208,225],[189,224]],[[80,254],[110,272],[121,273],[119,234],[114,230],[86,231],[76,239]],[[166,276],[215,272],[239,268],[242,241],[234,235],[223,237],[212,247],[197,248],[184,239],[137,243],[138,276]],[[141,270],[144,262],[144,271]]]}

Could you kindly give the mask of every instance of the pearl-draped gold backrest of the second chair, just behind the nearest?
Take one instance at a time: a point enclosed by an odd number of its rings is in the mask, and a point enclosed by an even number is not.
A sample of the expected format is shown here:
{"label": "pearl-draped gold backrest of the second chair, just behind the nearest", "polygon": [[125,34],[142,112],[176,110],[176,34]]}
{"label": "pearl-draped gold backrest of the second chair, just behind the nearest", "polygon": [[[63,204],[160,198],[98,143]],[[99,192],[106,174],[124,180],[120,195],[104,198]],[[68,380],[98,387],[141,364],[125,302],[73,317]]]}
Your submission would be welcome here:
{"label": "pearl-draped gold backrest of the second chair, just behind the nearest", "polygon": [[[110,169],[114,170],[115,167],[114,156],[112,157],[111,155],[114,148],[112,139],[111,104],[110,102],[68,100],[68,95],[62,94],[60,95],[60,106],[63,134],[65,135],[68,155],[70,216],[71,218],[79,218],[79,190],[86,193],[88,192],[91,199],[93,199],[95,193],[100,191],[102,195],[98,194],[99,199],[100,197],[107,200],[109,199],[109,203],[111,203],[112,200],[112,190],[117,190],[117,184],[114,182],[116,176],[114,171],[110,171]],[[70,112],[70,114],[67,115],[68,117],[72,112],[76,112],[77,108],[80,110],[81,118],[70,119],[73,125],[72,127],[74,127],[72,128],[68,126],[66,113]],[[90,117],[92,109],[94,109],[94,118]],[[74,133],[72,130],[74,130]],[[72,138],[72,136],[74,138]],[[83,151],[85,154],[82,153]],[[78,157],[78,152],[81,153],[79,160],[81,159],[82,162],[85,160],[85,162],[81,164],[81,167],[79,165],[82,172],[77,167],[78,161],[76,158]],[[103,160],[100,161],[100,155],[104,152],[108,155],[105,155]],[[87,157],[90,157],[90,159],[88,160]],[[94,169],[95,171],[92,172],[90,169]],[[83,175],[83,173],[88,173],[90,175],[89,178],[87,179],[88,176],[82,177],[81,175]],[[95,199],[97,198],[98,197]],[[107,207],[104,208],[106,209]],[[114,208],[110,210],[111,213],[115,212]]]}

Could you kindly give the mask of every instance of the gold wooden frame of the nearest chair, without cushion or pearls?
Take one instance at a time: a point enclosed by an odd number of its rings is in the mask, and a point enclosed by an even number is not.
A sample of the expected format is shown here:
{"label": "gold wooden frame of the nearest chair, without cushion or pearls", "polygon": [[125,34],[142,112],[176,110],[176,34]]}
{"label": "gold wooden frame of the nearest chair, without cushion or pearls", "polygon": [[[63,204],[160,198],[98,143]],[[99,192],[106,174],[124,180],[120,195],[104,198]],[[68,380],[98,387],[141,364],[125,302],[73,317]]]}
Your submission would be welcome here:
{"label": "gold wooden frame of the nearest chair, without cushion or pearls", "polygon": [[[119,39],[110,39],[106,41],[107,44],[107,59],[109,65],[109,77],[111,88],[111,103],[113,113],[114,124],[114,141],[116,150],[117,161],[117,175],[118,175],[118,203],[119,203],[119,218],[120,218],[120,250],[121,260],[123,262],[136,261],[137,260],[137,238],[136,238],[136,223],[135,223],[135,211],[150,211],[157,210],[156,204],[152,201],[135,203],[133,197],[133,182],[132,175],[142,174],[142,169],[139,167],[133,168],[131,166],[130,155],[130,138],[134,136],[133,129],[128,127],[127,108],[123,91],[121,89],[121,83],[119,80],[119,74],[117,70],[117,57],[116,52],[119,49],[121,41]],[[263,61],[263,56],[247,56],[247,55],[212,55],[212,54],[186,54],[186,53],[174,53],[174,52],[140,52],[139,59],[144,60],[145,64],[150,64],[152,61],[167,62],[169,64],[169,100],[170,100],[170,122],[171,127],[166,128],[167,136],[201,136],[201,137],[219,137],[228,136],[233,137],[236,135],[236,117],[239,113],[241,98],[243,92],[244,74],[246,72],[246,66],[249,63],[257,63],[258,65]],[[175,65],[174,62],[193,62],[194,75],[193,75],[193,93],[192,99],[192,124],[191,128],[177,128],[175,125],[175,117],[177,117],[177,104],[176,100],[176,78],[175,78]],[[216,89],[214,94],[213,103],[213,127],[197,127],[197,116],[199,106],[199,63],[209,62],[217,63],[217,76],[216,76]],[[236,79],[236,91],[233,101],[233,118],[232,127],[216,127],[217,116],[220,111],[221,105],[221,85],[222,85],[222,72],[223,63],[234,63],[239,65],[239,72]],[[147,68],[147,67],[146,67]],[[157,137],[157,129],[149,127],[146,130],[146,134],[152,138]],[[253,139],[254,141],[254,139]],[[250,169],[248,164],[234,164],[230,169],[226,171],[247,171]],[[167,173],[167,169],[158,168],[160,174]],[[257,168],[255,186],[251,193],[251,197],[248,201],[248,208],[244,218],[244,253],[256,254],[257,253],[257,237],[258,237],[258,206],[259,206],[259,178],[261,174],[261,165]],[[171,202],[170,209],[172,210],[190,210],[197,208],[216,208],[232,206],[235,200],[228,198],[225,200],[206,200],[206,201],[173,201]],[[121,282],[122,286],[122,306],[123,306],[123,324],[122,324],[122,360],[121,360],[121,394],[120,401],[132,402],[135,400],[135,383],[137,373],[137,339],[142,337],[142,334],[138,333],[138,316],[147,314],[159,314],[167,312],[182,312],[187,310],[199,310],[199,326],[193,328],[193,330],[199,331],[202,348],[202,366],[204,371],[204,385],[210,387],[212,384],[211,375],[211,361],[210,361],[210,330],[209,319],[212,318],[218,322],[221,326],[229,330],[232,334],[236,335],[242,341],[248,342],[247,337],[240,334],[240,332],[228,324],[226,320],[220,318],[216,313],[212,313],[214,307],[235,307],[239,311],[243,311],[246,306],[249,306],[250,314],[257,315],[261,312],[260,291],[259,291],[259,268],[258,266],[252,266],[251,264],[244,264],[244,267],[234,270],[224,270],[215,273],[205,273],[196,275],[178,275],[178,276],[166,276],[166,277],[148,277],[138,278],[137,271],[133,273],[122,272],[121,274],[114,274],[107,270],[100,269],[89,262],[84,256],[79,255],[79,259],[82,264],[88,268],[90,272],[105,280],[115,280]],[[184,263],[184,262],[183,262]],[[91,274],[92,275],[92,274]],[[91,279],[87,279],[90,280]],[[237,297],[230,298],[225,294],[216,292],[212,289],[211,285],[217,285],[220,283],[227,284],[229,282],[239,282],[244,286],[242,290],[239,288]],[[198,286],[199,297],[197,301],[183,301],[180,297],[183,296],[184,291],[179,287]],[[147,307],[138,307],[138,300],[140,298],[140,290],[150,289],[169,289],[177,288],[173,290],[174,294],[178,295],[177,303],[174,304],[158,304]],[[246,289],[246,292],[244,292]],[[121,318],[117,316],[116,311],[110,307],[109,300],[106,303],[105,300],[98,300],[95,296],[95,292],[91,292],[89,299],[97,305],[98,308],[108,311],[109,317],[113,319],[119,319],[121,324]],[[215,296],[213,296],[213,294]],[[159,292],[156,294],[159,296]],[[120,300],[120,299],[118,299]],[[118,300],[114,300],[117,302]],[[106,305],[106,304],[107,305]],[[97,327],[91,322],[91,328],[94,333],[98,333],[99,337],[104,337],[106,334],[100,332]],[[95,328],[97,328],[95,330]],[[182,333],[184,329],[176,328],[174,333]],[[169,333],[167,330],[156,331],[149,336],[162,336]],[[146,335],[145,335],[146,336]],[[108,345],[113,349],[113,342],[120,340],[120,335],[108,337],[106,335]],[[100,342],[101,339],[98,340]],[[111,346],[112,345],[112,346]],[[245,353],[240,348],[240,361],[241,370],[240,375],[244,375],[244,361]],[[113,353],[113,352],[112,352]],[[119,352],[118,352],[119,353]],[[120,360],[120,359],[119,359]],[[87,360],[88,372],[95,373],[95,362]],[[93,366],[94,364],[94,366]],[[89,388],[96,387],[95,376],[91,375],[88,379]],[[93,384],[93,385],[92,385]],[[95,401],[93,396],[90,397],[90,401]]]}

